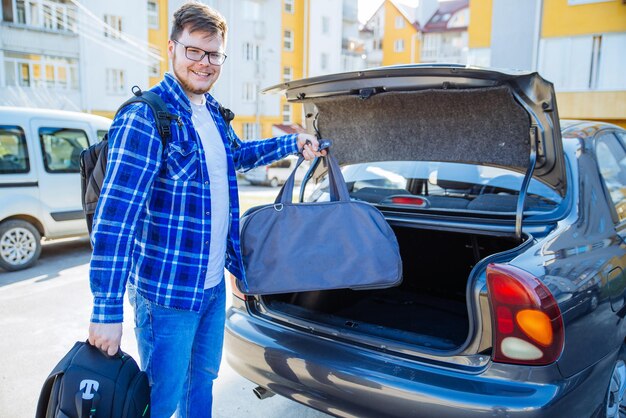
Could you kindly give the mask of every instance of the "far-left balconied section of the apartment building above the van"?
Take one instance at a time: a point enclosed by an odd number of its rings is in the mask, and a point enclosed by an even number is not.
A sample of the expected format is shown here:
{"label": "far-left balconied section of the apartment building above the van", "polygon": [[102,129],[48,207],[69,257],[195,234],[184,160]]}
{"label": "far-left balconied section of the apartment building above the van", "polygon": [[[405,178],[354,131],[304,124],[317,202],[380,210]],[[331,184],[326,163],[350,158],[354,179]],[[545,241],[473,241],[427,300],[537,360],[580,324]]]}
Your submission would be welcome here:
{"label": "far-left balconied section of the apartment building above the van", "polygon": [[69,1],[2,1],[0,104],[82,109],[78,13]]}

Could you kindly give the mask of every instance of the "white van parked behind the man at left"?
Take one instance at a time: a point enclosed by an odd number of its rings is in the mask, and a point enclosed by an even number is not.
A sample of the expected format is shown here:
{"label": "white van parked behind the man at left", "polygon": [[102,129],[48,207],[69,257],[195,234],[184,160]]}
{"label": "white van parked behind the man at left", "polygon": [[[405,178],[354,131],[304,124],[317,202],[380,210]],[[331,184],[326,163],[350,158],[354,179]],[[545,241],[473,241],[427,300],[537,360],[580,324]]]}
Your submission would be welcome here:
{"label": "white van parked behind the man at left", "polygon": [[86,113],[0,106],[0,268],[33,265],[42,237],[87,234],[80,152],[110,124]]}

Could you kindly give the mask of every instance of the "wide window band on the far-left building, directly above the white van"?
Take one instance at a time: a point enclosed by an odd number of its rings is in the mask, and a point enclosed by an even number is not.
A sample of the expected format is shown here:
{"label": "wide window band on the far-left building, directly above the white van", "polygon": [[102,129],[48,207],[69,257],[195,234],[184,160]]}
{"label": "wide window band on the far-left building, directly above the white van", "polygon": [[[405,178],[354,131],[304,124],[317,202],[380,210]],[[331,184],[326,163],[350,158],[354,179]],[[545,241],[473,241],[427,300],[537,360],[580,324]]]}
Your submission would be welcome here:
{"label": "wide window band on the far-left building, directly above the white van", "polygon": [[48,55],[5,52],[7,86],[78,89],[76,60]]}

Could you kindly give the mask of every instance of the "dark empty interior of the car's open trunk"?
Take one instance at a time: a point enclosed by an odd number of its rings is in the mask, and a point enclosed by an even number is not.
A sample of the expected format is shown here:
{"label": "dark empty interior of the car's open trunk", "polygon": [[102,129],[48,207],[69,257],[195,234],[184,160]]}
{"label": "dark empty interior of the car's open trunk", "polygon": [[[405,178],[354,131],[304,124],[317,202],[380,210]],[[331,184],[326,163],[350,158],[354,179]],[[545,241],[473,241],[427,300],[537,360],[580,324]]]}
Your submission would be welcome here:
{"label": "dark empty interior of the car's open trunk", "polygon": [[458,349],[470,330],[467,284],[476,263],[517,246],[513,238],[394,226],[403,281],[381,290],[263,296],[266,308],[301,320],[434,350]]}

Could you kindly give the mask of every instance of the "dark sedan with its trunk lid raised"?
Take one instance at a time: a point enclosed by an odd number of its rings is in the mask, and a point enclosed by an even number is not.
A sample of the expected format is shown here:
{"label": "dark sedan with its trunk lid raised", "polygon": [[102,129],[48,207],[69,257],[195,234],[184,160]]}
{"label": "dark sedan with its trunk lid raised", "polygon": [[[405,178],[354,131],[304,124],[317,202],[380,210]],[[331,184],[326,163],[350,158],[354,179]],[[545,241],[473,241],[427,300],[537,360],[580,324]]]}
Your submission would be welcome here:
{"label": "dark sedan with its trunk lid raised", "polygon": [[[260,396],[344,417],[625,416],[624,129],[560,121],[536,73],[400,66],[269,90],[333,139],[404,274],[234,287],[227,359]],[[325,174],[312,166],[303,201],[329,199]]]}

